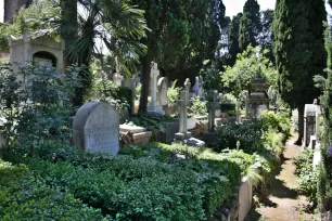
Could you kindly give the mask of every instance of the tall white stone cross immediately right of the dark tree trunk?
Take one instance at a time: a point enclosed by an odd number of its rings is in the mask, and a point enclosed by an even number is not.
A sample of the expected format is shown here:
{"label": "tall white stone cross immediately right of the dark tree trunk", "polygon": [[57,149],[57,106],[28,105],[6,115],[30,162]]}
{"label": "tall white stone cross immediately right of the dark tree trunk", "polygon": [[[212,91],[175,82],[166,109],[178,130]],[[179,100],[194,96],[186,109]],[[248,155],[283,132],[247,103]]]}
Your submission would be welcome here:
{"label": "tall white stone cross immediately right of the dark tree trunk", "polygon": [[165,115],[163,107],[157,99],[157,79],[159,77],[158,65],[152,63],[152,68],[150,73],[150,91],[151,91],[151,102],[148,105],[148,113]]}

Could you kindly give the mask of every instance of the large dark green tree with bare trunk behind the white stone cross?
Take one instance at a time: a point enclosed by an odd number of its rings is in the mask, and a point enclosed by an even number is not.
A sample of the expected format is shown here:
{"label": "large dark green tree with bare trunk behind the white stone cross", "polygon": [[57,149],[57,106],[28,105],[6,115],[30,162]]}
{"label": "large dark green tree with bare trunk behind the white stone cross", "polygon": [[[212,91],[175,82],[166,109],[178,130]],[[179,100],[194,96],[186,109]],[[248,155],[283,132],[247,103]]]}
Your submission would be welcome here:
{"label": "large dark green tree with bare trunk behind the white stone cross", "polygon": [[179,79],[179,84],[186,78],[193,80],[203,61],[215,56],[225,22],[225,5],[221,0],[131,2],[145,11],[151,29],[142,40],[148,53],[141,57],[140,112],[146,112],[151,62],[157,62],[163,76],[169,80]]}

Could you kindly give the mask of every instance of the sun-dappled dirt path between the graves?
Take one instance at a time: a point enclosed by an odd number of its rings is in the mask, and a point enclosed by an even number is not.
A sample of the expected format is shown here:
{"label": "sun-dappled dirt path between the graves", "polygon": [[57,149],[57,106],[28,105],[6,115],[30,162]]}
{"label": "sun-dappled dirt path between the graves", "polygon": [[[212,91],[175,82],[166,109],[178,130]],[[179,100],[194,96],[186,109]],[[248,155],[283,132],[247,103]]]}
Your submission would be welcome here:
{"label": "sun-dappled dirt path between the graves", "polygon": [[293,220],[315,220],[314,214],[306,212],[308,202],[304,196],[297,195],[292,190],[296,185],[295,166],[292,164],[293,157],[299,154],[299,146],[294,145],[295,140],[289,140],[283,153],[283,162],[280,172],[277,173],[272,183],[271,194],[267,204],[256,208],[248,219],[266,221],[293,221]]}

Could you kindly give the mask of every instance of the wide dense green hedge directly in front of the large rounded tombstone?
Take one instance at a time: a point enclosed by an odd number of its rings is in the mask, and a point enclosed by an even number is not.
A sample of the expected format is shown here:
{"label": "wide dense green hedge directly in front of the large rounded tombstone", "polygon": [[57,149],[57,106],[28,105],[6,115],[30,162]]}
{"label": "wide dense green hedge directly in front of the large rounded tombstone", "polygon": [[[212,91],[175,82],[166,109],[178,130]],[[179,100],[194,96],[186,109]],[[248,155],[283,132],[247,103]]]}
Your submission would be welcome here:
{"label": "wide dense green hedge directly in front of the large rounded tombstone", "polygon": [[122,220],[205,219],[232,200],[234,186],[257,161],[243,152],[159,143],[124,147],[113,157],[43,142],[33,158],[8,156],[24,161],[50,190]]}

